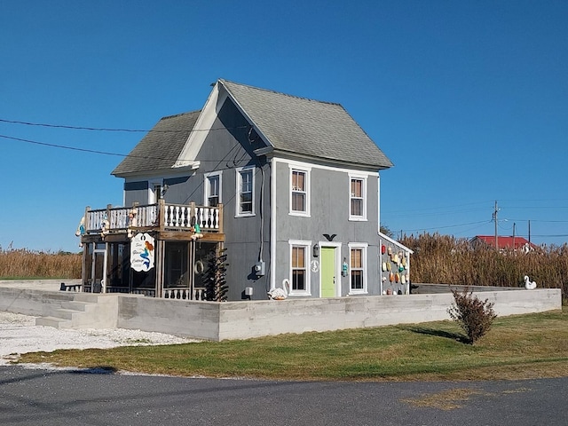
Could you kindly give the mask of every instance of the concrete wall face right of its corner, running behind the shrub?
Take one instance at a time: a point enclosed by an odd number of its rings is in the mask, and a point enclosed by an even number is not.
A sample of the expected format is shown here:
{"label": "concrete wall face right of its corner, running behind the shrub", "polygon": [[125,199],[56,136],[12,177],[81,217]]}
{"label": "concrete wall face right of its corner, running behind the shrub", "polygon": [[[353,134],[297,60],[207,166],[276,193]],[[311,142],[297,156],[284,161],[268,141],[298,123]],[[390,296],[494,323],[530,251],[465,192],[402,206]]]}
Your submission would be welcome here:
{"label": "concrete wall face right of its corner, running behind the shrub", "polygon": [[[562,309],[560,289],[484,291],[500,316]],[[341,297],[221,304],[219,339],[449,319],[451,294]]]}

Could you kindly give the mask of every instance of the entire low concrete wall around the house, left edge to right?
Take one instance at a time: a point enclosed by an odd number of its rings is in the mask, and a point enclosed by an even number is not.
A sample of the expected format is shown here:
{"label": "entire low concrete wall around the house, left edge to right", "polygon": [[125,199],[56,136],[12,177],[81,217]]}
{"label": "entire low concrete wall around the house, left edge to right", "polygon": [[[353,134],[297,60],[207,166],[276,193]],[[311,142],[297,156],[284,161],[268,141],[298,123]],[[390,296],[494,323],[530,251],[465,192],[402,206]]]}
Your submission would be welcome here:
{"label": "entire low concrete wall around the house, left edge to right", "polygon": [[[493,302],[500,316],[562,309],[556,288],[483,291],[478,296]],[[447,308],[454,301],[443,293],[217,304],[0,286],[0,311],[45,316],[73,298],[85,297],[98,298],[106,307],[101,306],[91,325],[83,321],[83,327],[141,329],[213,341],[449,319]]]}

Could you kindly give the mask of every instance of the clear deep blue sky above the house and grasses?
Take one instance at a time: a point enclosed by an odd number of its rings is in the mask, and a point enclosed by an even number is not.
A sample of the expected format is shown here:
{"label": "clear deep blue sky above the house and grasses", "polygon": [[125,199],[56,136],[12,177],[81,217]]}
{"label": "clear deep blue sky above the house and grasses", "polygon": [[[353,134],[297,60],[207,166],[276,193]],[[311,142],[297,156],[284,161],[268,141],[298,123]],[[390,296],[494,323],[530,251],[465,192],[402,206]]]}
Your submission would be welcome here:
{"label": "clear deep blue sky above the house and grasses", "polygon": [[492,235],[498,201],[500,235],[564,244],[566,22],[565,1],[4,0],[0,246],[77,251],[85,206],[122,204],[122,157],[80,150],[144,135],[13,122],[148,130],[219,77],[342,104],[395,164],[397,234]]}

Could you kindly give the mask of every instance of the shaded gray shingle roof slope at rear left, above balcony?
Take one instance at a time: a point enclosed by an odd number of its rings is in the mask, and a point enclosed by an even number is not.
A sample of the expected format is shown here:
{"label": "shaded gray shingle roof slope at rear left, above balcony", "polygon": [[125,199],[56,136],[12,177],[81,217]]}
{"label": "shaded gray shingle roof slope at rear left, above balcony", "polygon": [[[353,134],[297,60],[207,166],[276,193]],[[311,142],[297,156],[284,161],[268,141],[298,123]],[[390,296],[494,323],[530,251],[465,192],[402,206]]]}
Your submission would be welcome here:
{"label": "shaded gray shingle roof slope at rear left, above balcony", "polygon": [[201,111],[163,117],[112,174],[129,174],[170,169],[185,146]]}

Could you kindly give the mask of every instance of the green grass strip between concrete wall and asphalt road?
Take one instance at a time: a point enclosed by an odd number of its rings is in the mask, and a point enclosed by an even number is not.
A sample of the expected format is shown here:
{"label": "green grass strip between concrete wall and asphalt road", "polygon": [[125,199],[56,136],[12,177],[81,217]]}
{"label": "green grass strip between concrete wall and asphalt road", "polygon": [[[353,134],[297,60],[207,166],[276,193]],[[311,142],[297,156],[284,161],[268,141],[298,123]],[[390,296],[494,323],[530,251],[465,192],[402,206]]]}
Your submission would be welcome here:
{"label": "green grass strip between concrete wall and asphalt road", "polygon": [[292,381],[501,380],[568,376],[568,309],[497,318],[476,345],[452,321],[242,341],[22,355],[20,362],[147,374]]}

